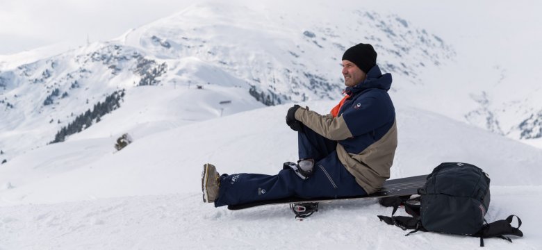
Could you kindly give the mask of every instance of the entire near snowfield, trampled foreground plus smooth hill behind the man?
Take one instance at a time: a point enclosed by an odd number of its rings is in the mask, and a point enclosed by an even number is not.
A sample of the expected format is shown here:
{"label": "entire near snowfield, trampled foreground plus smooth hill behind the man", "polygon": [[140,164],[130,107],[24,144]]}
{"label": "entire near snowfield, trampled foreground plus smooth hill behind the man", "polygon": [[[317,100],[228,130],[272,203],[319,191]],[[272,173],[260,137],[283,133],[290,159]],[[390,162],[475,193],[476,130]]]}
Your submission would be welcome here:
{"label": "entire near snowfield, trampled foreground plus smooth hill behind the man", "polygon": [[[325,113],[334,103],[304,104]],[[444,161],[478,165],[491,177],[486,219],[515,213],[524,221],[524,239],[486,245],[542,246],[536,229],[541,222],[536,208],[542,205],[540,149],[436,113],[396,106],[399,148],[392,178],[427,174]],[[375,215],[391,210],[375,200],[325,204],[305,222],[295,222],[287,206],[231,212],[202,203],[203,163],[215,163],[221,173],[275,174],[282,163],[297,158],[295,133],[284,124],[288,107],[183,125],[138,138],[117,153],[112,153],[114,138],[97,137],[107,134],[106,126],[96,126],[78,140],[19,156],[0,169],[0,233],[6,236],[1,244],[8,249],[477,247],[476,238],[433,233],[404,238],[404,231],[379,222]],[[34,205],[23,205],[28,203]]]}

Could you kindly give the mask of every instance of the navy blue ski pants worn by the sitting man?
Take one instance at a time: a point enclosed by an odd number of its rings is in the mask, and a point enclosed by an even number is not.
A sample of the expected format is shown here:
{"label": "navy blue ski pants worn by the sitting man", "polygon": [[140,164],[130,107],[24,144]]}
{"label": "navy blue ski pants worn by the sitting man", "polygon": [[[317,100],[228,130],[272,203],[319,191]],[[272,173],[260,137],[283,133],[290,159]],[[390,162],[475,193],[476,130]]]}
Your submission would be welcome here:
{"label": "navy blue ski pants worn by the sitting man", "polygon": [[287,197],[348,197],[367,193],[338,160],[337,142],[303,126],[298,132],[299,159],[313,158],[313,175],[303,180],[293,169],[277,175],[222,174],[215,207]]}

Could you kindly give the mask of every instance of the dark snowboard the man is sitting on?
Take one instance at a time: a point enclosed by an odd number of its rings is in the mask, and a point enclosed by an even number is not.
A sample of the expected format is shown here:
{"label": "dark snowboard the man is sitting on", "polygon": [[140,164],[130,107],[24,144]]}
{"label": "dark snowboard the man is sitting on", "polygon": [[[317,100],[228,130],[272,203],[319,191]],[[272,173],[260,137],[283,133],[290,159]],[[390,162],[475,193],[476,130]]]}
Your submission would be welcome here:
{"label": "dark snowboard the man is sitting on", "polygon": [[229,205],[229,210],[241,210],[245,208],[254,208],[257,206],[265,205],[277,205],[277,204],[291,204],[291,203],[313,203],[313,202],[332,202],[339,200],[348,200],[348,199],[367,199],[367,198],[384,198],[384,197],[400,197],[400,196],[409,196],[413,194],[418,194],[418,189],[422,188],[425,185],[427,175],[420,176],[411,176],[405,178],[395,178],[391,180],[384,181],[384,185],[369,195],[365,196],[353,196],[353,197],[338,197],[338,198],[299,198],[299,197],[288,197],[284,199],[274,199],[268,201],[254,201],[250,203],[243,203],[237,205]]}

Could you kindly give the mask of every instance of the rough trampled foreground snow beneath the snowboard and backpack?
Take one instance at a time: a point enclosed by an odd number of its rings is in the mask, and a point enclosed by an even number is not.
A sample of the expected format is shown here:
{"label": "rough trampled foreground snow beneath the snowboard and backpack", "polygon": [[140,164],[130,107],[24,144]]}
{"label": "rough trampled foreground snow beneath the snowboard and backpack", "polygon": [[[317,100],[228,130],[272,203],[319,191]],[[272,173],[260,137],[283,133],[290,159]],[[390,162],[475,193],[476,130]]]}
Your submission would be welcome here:
{"label": "rough trampled foreground snow beneath the snowboard and backpack", "polygon": [[[540,188],[495,188],[486,219],[516,213],[523,238],[484,240],[484,249],[540,249]],[[479,239],[414,233],[380,222],[375,200],[321,204],[297,222],[288,205],[229,211],[200,194],[98,199],[0,208],[3,249],[479,249]],[[529,203],[530,206],[518,204]],[[517,222],[513,222],[517,226]]]}

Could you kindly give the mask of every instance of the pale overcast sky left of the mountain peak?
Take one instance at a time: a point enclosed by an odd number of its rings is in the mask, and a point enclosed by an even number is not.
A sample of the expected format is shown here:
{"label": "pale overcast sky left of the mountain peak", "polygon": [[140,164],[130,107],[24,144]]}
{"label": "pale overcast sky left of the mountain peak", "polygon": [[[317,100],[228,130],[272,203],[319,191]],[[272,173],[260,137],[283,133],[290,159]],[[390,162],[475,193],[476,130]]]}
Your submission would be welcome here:
{"label": "pale overcast sky left of the mountain peak", "polygon": [[190,0],[0,0],[0,54],[109,40],[179,12]]}

